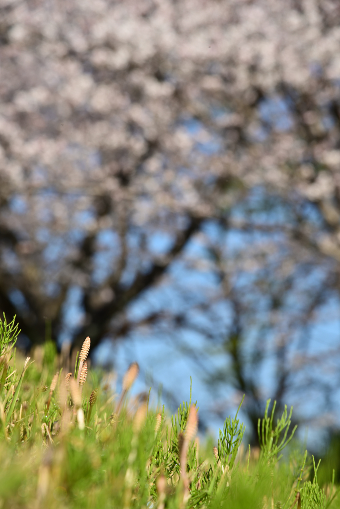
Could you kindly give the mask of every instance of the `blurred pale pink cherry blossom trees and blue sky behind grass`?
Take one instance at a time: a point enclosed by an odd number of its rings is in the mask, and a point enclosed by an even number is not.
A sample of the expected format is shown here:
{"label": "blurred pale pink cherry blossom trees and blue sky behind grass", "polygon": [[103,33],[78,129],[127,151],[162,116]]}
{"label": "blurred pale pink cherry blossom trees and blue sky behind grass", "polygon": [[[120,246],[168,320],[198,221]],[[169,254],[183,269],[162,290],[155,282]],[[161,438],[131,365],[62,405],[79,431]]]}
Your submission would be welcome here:
{"label": "blurred pale pink cherry blossom trees and blue sky behind grass", "polygon": [[[337,0],[1,0],[0,311],[202,430],[340,426]],[[160,384],[162,384],[160,386]]]}

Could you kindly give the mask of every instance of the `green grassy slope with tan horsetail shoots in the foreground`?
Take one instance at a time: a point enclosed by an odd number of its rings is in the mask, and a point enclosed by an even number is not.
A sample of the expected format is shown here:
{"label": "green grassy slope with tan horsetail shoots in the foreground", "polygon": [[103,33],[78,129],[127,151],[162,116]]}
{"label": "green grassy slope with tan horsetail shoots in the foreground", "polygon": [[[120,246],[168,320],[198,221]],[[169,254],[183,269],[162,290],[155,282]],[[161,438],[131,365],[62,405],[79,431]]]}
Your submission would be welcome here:
{"label": "green grassy slope with tan horsetail shoots in the foreground", "polygon": [[[275,403],[259,420],[260,450],[241,444],[244,425],[226,418],[215,447],[200,448],[196,404],[169,419],[149,395],[129,397],[138,365],[120,395],[88,373],[86,338],[74,373],[47,342],[35,359],[19,359],[18,326],[0,322],[0,507],[340,507],[333,482],[320,487],[307,452],[291,441],[292,410],[274,423]],[[241,406],[241,405],[240,405]],[[239,407],[240,408],[240,407]],[[286,449],[287,450],[287,449]]]}

